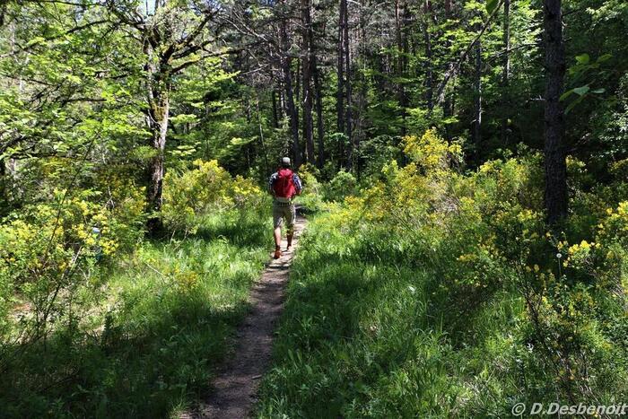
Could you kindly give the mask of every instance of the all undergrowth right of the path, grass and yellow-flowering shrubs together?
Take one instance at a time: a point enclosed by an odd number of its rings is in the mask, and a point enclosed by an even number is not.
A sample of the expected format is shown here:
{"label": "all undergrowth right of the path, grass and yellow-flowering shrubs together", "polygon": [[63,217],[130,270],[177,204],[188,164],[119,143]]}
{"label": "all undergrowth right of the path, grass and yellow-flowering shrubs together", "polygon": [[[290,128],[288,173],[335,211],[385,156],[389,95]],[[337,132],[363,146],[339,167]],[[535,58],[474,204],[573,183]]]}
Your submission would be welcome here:
{"label": "all undergrowth right of the path, grass and yellow-flowering shrubs together", "polygon": [[[623,195],[576,195],[559,240],[538,153],[461,174],[460,147],[434,131],[405,142],[409,164],[310,223],[257,415],[507,416],[626,397]],[[588,186],[583,163],[570,170]]]}

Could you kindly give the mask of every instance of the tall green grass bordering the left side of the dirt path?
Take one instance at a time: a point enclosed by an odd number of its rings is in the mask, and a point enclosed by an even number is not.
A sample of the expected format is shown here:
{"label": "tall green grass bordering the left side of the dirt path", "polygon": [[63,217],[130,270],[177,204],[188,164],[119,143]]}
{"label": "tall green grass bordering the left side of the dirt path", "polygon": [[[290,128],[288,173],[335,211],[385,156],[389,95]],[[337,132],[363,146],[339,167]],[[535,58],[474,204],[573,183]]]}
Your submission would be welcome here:
{"label": "tall green grass bordering the left side of the dirt path", "polygon": [[[205,216],[94,277],[91,314],[29,345],[0,376],[0,416],[164,417],[209,385],[270,244],[260,214]],[[97,294],[97,295],[96,295]]]}

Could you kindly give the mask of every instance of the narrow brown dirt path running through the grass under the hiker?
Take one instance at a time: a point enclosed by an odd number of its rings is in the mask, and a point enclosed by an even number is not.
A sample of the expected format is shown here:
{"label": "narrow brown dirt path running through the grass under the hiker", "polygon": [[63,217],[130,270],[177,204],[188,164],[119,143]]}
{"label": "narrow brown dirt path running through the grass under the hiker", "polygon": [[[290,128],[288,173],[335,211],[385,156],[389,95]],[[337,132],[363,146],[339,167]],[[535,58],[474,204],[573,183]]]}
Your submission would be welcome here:
{"label": "narrow brown dirt path running through the grass under the hiker", "polygon": [[219,369],[212,382],[212,393],[186,418],[246,418],[256,401],[259,379],[270,363],[273,333],[283,310],[283,292],[290,274],[294,249],[305,227],[305,219],[297,216],[292,249],[285,252],[282,241],[282,258],[271,259],[264,274],[253,286],[250,294],[252,309],[237,332],[235,352]]}

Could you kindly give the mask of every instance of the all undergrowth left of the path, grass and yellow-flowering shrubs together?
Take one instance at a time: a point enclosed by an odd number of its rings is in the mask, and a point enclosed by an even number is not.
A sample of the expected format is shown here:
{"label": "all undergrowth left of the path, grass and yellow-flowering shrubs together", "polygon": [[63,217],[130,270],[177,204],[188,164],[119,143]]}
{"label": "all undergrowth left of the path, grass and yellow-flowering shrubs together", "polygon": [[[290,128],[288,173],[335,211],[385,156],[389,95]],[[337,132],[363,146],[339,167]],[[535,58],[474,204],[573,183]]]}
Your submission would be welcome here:
{"label": "all undergrowth left of the path, grass and yellow-flowering shrubs together", "polygon": [[170,241],[143,242],[145,188],[126,164],[21,169],[40,188],[0,223],[3,415],[176,415],[205,390],[266,260],[260,189],[216,161],[172,170]]}

